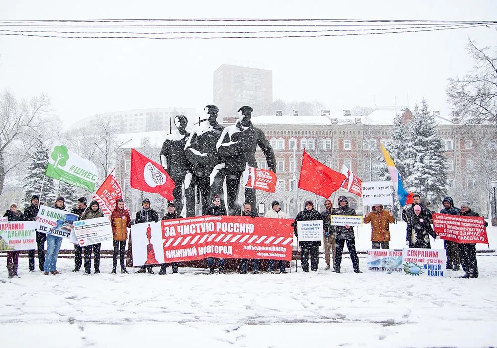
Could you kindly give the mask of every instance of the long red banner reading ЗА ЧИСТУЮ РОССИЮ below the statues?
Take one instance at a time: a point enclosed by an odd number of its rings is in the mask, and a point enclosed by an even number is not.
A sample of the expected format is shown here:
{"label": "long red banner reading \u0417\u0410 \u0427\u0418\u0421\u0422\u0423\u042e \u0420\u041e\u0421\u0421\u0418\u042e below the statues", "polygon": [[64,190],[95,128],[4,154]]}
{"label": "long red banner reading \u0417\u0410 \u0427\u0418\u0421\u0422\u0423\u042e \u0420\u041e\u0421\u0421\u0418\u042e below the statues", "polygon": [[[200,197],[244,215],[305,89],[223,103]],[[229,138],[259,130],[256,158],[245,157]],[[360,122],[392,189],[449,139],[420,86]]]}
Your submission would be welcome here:
{"label": "long red banner reading \u0417\u0410 \u0427\u0418\u0421\u0422\u0423\u042e \u0420\u041e\u0421\u0421\u0418\u042e below the statues", "polygon": [[133,266],[201,260],[292,259],[292,219],[197,216],[131,227]]}

